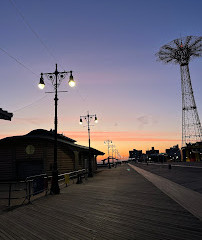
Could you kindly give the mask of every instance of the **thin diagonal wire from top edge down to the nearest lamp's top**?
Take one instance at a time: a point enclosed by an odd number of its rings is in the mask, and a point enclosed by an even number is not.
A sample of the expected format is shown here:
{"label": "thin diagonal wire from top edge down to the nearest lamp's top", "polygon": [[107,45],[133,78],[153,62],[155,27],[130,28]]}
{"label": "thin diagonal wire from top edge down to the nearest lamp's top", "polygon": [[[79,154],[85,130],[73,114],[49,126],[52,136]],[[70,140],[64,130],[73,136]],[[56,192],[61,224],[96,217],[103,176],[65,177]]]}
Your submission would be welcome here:
{"label": "thin diagonal wire from top edge down to the nearest lamp's top", "polygon": [[[15,8],[15,10],[17,11],[17,13],[19,14],[19,16],[22,18],[23,22],[25,23],[25,25],[27,25],[27,27],[29,28],[29,30],[35,35],[35,37],[39,40],[39,42],[43,45],[43,47],[46,49],[46,51],[49,53],[49,55],[52,57],[52,59],[55,62],[58,62],[56,57],[52,54],[52,52],[49,50],[49,48],[46,46],[46,44],[42,41],[42,39],[40,38],[39,34],[33,29],[33,27],[27,22],[27,20],[25,19],[24,15],[22,14],[22,12],[19,10],[19,8],[17,7],[16,3],[14,2],[14,0],[9,0],[10,3],[12,4],[12,6]],[[59,63],[58,63],[59,64]],[[60,65],[60,64],[59,64]],[[60,65],[60,67],[64,70],[64,68]]]}

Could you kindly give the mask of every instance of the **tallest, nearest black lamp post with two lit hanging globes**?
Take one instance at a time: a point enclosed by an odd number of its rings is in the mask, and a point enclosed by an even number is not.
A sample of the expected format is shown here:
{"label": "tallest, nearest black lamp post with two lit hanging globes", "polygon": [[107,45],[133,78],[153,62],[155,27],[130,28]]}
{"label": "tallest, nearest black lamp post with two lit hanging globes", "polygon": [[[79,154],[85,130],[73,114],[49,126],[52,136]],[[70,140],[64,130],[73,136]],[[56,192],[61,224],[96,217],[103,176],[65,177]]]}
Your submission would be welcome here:
{"label": "tallest, nearest black lamp post with two lit hanging globes", "polygon": [[69,85],[70,87],[75,86],[75,81],[72,76],[72,71],[69,72],[58,72],[57,69],[57,64],[55,68],[55,72],[53,73],[41,73],[41,78],[40,82],[38,84],[38,87],[40,89],[43,89],[45,87],[43,75],[47,77],[48,80],[51,81],[53,87],[54,87],[54,92],[55,93],[55,130],[54,130],[54,163],[53,163],[53,169],[52,169],[52,182],[51,182],[51,189],[50,192],[51,194],[59,194],[60,193],[60,188],[58,184],[58,163],[57,163],[57,125],[58,125],[58,120],[57,120],[57,105],[58,105],[58,87],[61,84],[61,81],[66,77],[67,74],[70,74],[69,76]]}

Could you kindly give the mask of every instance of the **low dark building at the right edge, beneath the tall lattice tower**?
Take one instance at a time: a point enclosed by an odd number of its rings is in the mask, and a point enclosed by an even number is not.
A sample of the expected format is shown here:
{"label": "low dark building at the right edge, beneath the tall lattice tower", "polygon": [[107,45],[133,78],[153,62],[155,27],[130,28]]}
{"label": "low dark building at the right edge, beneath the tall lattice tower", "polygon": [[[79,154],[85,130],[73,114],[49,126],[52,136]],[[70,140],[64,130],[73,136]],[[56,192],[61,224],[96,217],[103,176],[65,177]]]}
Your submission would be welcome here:
{"label": "low dark building at the right edge, beneath the tall lattice tower", "polygon": [[202,142],[189,143],[185,147],[182,147],[182,161],[201,162]]}

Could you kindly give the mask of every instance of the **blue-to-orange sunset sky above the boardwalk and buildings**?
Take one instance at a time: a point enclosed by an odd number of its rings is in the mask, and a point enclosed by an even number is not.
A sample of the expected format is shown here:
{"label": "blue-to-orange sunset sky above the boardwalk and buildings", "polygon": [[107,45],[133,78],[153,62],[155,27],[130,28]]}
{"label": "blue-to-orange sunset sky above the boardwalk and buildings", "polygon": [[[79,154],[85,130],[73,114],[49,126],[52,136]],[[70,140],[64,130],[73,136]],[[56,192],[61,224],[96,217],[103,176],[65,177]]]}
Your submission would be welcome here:
{"label": "blue-to-orange sunset sky above the boardwalk and buildings", "polygon": [[[54,94],[39,90],[41,72],[73,70],[76,88],[63,80],[58,131],[88,145],[80,115],[96,114],[92,147],[110,139],[122,157],[151,147],[181,147],[180,69],[156,61],[173,39],[202,35],[201,0],[2,0],[0,8],[0,138],[54,128]],[[202,58],[190,63],[202,120]],[[105,157],[104,156],[104,157]]]}

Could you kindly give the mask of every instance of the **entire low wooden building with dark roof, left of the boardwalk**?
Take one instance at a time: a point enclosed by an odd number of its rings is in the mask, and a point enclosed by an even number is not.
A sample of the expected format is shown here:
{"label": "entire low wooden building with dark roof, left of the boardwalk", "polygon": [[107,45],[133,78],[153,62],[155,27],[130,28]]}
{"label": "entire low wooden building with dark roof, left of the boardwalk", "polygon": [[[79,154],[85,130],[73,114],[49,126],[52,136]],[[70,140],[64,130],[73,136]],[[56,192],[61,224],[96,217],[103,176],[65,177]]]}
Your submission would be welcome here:
{"label": "entire low wooden building with dark roof, left of the boardwalk", "polygon": [[[58,134],[58,171],[60,173],[88,169],[89,148]],[[91,148],[93,171],[97,156],[103,152]],[[54,131],[37,129],[22,136],[0,140],[0,180],[19,180],[41,173],[52,174],[54,162]]]}

